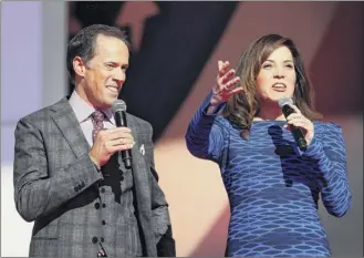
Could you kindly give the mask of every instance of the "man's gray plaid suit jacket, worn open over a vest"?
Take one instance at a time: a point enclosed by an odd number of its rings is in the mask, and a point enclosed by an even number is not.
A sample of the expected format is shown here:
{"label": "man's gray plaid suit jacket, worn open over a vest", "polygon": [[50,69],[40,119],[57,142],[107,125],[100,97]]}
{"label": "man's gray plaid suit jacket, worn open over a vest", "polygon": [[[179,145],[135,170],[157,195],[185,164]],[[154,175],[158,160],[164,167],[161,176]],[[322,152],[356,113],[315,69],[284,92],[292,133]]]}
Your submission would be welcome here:
{"label": "man's gray plaid suit jacket, worn open over a vest", "polygon": [[[131,114],[127,122],[136,142],[132,149],[133,175],[143,254],[155,257],[158,240],[166,231],[173,239],[168,204],[150,172],[152,126]],[[101,223],[94,205],[103,175],[89,157],[90,145],[67,97],[21,118],[14,135],[15,206],[23,219],[34,221],[30,256],[96,256],[100,246],[92,242],[92,237]],[[144,155],[139,152],[143,145]],[[114,223],[123,228],[118,220]],[[123,240],[116,236],[114,242],[112,254],[125,254],[119,249],[125,248]],[[171,244],[167,249],[175,251],[174,239]]]}

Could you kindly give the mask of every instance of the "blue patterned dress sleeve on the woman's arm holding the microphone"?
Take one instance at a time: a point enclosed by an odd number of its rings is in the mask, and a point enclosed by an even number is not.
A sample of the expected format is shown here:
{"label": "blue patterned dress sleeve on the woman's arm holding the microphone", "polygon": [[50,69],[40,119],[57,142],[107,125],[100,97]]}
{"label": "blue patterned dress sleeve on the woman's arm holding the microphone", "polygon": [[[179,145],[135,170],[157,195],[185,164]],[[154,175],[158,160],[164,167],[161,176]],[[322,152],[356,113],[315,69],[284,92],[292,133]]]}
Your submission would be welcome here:
{"label": "blue patterned dress sleeve on the woman's arm holding the microphone", "polygon": [[347,180],[345,143],[341,127],[324,124],[322,134],[315,135],[304,155],[318,162],[321,175],[322,202],[329,214],[342,217],[351,204],[352,194]]}

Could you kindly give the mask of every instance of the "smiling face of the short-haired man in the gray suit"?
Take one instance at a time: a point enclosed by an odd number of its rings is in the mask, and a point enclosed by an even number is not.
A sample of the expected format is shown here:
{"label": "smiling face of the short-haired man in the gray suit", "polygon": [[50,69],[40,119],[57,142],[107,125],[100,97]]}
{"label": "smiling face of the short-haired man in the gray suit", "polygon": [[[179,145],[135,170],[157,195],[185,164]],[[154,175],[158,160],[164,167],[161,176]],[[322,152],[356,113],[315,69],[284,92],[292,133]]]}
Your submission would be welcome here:
{"label": "smiling face of the short-haired man in the gray suit", "polygon": [[126,80],[129,52],[126,44],[114,37],[98,35],[94,56],[81,64],[82,83],[79,95],[95,109],[108,109],[117,99]]}

